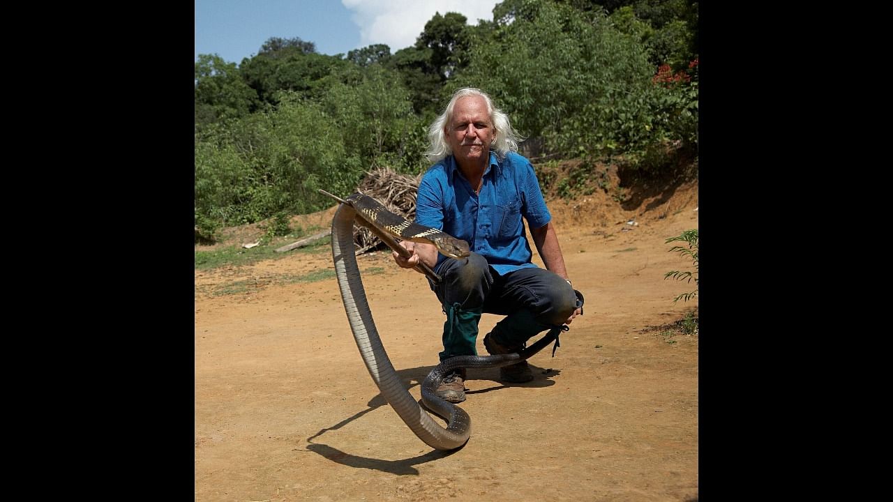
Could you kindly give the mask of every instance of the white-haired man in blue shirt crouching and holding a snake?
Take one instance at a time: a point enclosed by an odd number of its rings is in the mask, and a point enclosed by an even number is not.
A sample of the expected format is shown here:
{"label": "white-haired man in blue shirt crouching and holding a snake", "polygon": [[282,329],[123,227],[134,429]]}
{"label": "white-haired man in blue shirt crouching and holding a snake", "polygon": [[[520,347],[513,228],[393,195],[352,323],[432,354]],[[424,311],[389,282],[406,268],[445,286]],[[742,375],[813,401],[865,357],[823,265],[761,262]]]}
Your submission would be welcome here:
{"label": "white-haired man in blue shirt crouching and holding a snake", "polygon": [[[430,283],[447,314],[440,361],[477,355],[484,312],[506,315],[484,337],[491,355],[519,352],[539,332],[572,322],[581,311],[552,216],[533,166],[515,153],[519,137],[505,113],[480,89],[462,88],[431,124],[429,138],[428,158],[435,164],[419,185],[415,221],[467,241],[472,255],[455,260],[411,241],[402,245],[412,256],[393,255],[401,267],[421,261],[443,278]],[[547,270],[530,261],[522,217]],[[461,403],[466,378],[464,369],[448,375],[438,396]],[[499,380],[531,381],[533,373],[522,361],[500,368]]]}

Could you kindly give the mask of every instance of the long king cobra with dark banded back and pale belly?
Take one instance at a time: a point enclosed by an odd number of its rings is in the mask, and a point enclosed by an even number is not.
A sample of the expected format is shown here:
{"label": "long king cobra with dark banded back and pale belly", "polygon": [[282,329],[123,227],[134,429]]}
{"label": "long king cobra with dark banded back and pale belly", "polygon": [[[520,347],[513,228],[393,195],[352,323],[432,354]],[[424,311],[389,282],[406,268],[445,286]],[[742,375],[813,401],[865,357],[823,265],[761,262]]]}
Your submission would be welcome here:
{"label": "long king cobra with dark banded back and pale belly", "polygon": [[[335,262],[335,274],[338,277],[338,288],[341,289],[347,321],[350,323],[356,347],[360,349],[360,356],[363,357],[363,363],[366,364],[372,381],[380,389],[382,397],[419,439],[438,450],[461,448],[471,437],[472,419],[462,408],[437,395],[436,390],[444,378],[456,368],[497,368],[521,362],[556,340],[561,329],[549,330],[546,336],[520,353],[448,358],[435,366],[422,382],[421,401],[416,402],[397,376],[393,364],[388,359],[388,353],[381,344],[375,322],[372,321],[363,280],[360,279],[360,270],[356,264],[354,223],[371,230],[388,247],[405,258],[412,254],[400,246],[397,238],[433,244],[440,253],[454,259],[464,259],[469,255],[468,243],[453,238],[441,230],[409,222],[402,216],[389,212],[375,199],[363,194],[355,193],[342,199],[325,190],[319,191],[341,203],[332,219],[332,259]],[[440,280],[426,264],[420,262],[417,269],[435,282]],[[579,294],[578,297],[580,297],[578,304],[581,305],[582,299]],[[566,330],[566,326],[563,329]],[[444,428],[435,422],[422,406],[443,417],[447,421],[447,427]]]}

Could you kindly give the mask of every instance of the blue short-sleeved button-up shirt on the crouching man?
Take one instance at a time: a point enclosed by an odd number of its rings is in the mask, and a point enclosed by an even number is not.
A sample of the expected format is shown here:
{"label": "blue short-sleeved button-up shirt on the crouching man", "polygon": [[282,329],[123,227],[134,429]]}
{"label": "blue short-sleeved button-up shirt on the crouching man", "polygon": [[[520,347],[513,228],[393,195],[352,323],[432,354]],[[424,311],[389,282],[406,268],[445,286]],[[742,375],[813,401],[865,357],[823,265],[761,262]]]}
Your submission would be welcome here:
{"label": "blue short-sleeved button-up shirt on the crouching man", "polygon": [[[531,229],[552,220],[533,165],[522,155],[512,152],[499,160],[490,152],[480,195],[453,155],[431,166],[421,179],[415,222],[468,242],[500,275],[537,266],[530,262],[522,216]],[[438,254],[438,265],[446,259]]]}

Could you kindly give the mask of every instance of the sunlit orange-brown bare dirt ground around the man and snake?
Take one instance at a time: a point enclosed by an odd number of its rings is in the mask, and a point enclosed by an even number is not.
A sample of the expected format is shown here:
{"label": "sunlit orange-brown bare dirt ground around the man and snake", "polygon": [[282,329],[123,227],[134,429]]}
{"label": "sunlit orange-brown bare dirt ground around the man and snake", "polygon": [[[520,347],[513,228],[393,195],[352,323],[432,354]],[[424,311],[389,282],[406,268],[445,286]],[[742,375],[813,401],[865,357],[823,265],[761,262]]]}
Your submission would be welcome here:
{"label": "sunlit orange-brown bare dirt ground around the man and snake", "polygon": [[[333,275],[274,280],[332,271],[330,247],[196,271],[196,501],[697,501],[698,337],[658,328],[697,308],[697,297],[672,301],[694,283],[663,279],[692,270],[664,240],[697,228],[697,182],[634,204],[598,192],[549,207],[584,314],[555,357],[547,347],[530,359],[530,383],[470,370],[460,406],[472,436],[454,452],[421,442],[380,397]],[[328,225],[332,213],[302,218]],[[446,316],[389,253],[358,260],[388,356],[418,399]],[[499,319],[481,319],[480,354]]]}

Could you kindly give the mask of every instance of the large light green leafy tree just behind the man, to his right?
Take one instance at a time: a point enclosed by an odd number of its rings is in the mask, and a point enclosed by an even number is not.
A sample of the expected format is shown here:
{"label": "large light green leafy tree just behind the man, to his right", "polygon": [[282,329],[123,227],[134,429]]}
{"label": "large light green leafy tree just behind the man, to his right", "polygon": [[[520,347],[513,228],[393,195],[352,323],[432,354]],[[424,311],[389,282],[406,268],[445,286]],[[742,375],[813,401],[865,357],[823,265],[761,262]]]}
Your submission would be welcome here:
{"label": "large light green leafy tree just behind the man, to his right", "polygon": [[[644,48],[613,29],[604,13],[593,15],[588,21],[572,7],[550,1],[498,4],[495,29],[474,39],[467,70],[447,90],[485,88],[525,136],[566,136],[567,121],[591,120],[579,117],[587,106],[616,105],[649,85],[652,75]],[[583,127],[595,132],[598,123]],[[592,139],[588,134],[562,146],[576,150]]]}

